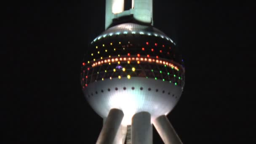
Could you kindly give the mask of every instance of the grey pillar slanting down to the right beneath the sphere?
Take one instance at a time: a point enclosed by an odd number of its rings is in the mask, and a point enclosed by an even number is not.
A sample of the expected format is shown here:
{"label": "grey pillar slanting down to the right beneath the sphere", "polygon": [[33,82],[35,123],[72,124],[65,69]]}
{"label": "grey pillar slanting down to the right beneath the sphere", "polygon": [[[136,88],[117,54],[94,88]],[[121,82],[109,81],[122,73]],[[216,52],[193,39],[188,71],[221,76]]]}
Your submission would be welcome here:
{"label": "grey pillar slanting down to the right beneath the sphere", "polygon": [[165,115],[157,117],[153,124],[165,144],[182,144],[179,136]]}

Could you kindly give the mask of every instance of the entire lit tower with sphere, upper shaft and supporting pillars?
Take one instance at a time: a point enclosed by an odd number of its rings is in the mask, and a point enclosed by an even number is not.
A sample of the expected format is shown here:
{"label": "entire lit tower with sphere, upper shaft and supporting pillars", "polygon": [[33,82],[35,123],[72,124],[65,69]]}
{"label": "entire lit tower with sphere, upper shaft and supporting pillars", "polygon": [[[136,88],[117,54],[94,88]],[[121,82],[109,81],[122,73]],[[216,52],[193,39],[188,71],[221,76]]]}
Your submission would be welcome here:
{"label": "entire lit tower with sphere, upper shaft and supporting pillars", "polygon": [[105,31],[81,67],[84,96],[103,118],[96,144],[182,144],[166,117],[181,97],[185,69],[170,37],[153,27],[152,0],[106,0]]}

